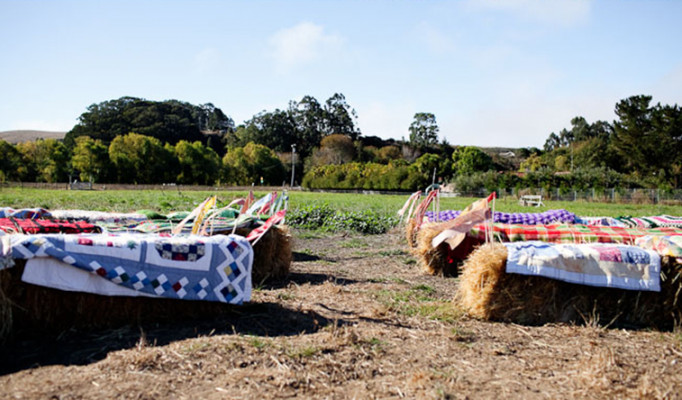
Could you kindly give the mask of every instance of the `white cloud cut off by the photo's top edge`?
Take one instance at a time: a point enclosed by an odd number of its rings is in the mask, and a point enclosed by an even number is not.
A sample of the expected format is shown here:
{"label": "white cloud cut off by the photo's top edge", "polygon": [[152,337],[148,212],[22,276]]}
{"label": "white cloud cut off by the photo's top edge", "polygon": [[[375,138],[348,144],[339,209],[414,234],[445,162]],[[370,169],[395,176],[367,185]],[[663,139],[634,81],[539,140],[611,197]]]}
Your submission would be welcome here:
{"label": "white cloud cut off by the photo's top edge", "polygon": [[571,26],[587,21],[591,0],[468,0],[471,9],[507,12],[543,24]]}

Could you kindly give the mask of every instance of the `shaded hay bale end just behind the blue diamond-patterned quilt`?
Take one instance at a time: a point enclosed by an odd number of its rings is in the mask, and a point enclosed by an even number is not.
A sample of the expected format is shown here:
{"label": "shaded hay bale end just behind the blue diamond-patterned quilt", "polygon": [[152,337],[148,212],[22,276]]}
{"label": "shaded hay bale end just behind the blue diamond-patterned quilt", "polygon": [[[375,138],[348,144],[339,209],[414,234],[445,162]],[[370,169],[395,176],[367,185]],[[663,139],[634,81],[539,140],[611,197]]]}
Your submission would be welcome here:
{"label": "shaded hay bale end just behind the blue diamond-patterned quilt", "polygon": [[[237,234],[246,236],[251,229],[237,229]],[[253,246],[253,268],[251,272],[254,285],[268,279],[283,279],[289,275],[293,253],[291,234],[286,226],[274,226]]]}

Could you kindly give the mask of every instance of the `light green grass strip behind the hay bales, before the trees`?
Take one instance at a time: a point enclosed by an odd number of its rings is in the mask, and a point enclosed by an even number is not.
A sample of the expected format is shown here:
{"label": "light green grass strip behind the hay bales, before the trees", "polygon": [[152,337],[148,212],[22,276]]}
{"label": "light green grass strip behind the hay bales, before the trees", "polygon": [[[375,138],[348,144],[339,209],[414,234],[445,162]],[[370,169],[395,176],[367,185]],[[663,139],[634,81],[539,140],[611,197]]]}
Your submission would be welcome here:
{"label": "light green grass strip behind the hay bales, before the trees", "polygon": [[[160,213],[187,211],[195,208],[211,195],[218,196],[218,205],[227,205],[246,192],[239,191],[69,191],[28,188],[0,190],[0,207],[45,209],[84,209],[115,212],[153,210]],[[257,197],[265,192],[255,192]],[[365,195],[354,193],[289,192],[289,208],[328,204],[340,211],[372,210],[383,215],[395,215],[408,195]],[[441,210],[461,210],[475,198],[446,197],[440,201]],[[513,198],[497,200],[496,210],[504,212],[542,212],[550,209],[566,209],[580,216],[647,216],[682,215],[682,207],[662,204],[616,204],[588,203],[583,201],[545,201],[544,207],[520,206]]]}

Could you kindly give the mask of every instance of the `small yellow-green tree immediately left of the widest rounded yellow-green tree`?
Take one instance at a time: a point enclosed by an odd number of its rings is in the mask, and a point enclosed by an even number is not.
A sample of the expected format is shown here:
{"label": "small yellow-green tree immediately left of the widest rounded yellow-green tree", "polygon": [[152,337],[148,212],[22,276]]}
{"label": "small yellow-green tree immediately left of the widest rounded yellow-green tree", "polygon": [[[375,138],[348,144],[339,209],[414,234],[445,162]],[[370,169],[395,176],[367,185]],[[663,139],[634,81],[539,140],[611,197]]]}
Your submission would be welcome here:
{"label": "small yellow-green tree immediately left of the widest rounded yellow-green tree", "polygon": [[77,137],[71,166],[80,173],[82,181],[100,182],[108,175],[109,149],[99,139]]}

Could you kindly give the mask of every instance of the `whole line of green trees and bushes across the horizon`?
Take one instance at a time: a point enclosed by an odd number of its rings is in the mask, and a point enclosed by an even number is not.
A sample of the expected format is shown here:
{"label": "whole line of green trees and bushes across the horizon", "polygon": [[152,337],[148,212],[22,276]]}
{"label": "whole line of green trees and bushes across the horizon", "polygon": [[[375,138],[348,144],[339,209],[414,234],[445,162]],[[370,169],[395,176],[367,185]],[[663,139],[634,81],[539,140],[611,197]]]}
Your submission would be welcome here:
{"label": "whole line of green trees and bushes across the horizon", "polygon": [[63,142],[0,141],[0,179],[280,185],[295,167],[295,181],[309,188],[679,188],[682,112],[651,100],[621,100],[612,123],[575,117],[542,149],[502,152],[439,141],[436,117],[425,112],[414,115],[408,139],[363,136],[340,93],[304,96],[239,126],[211,103],[123,97],[88,107]]}

